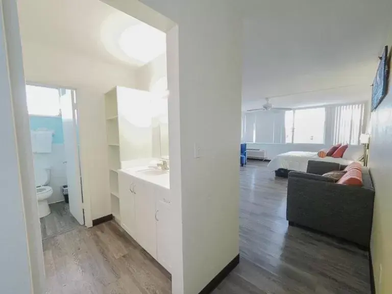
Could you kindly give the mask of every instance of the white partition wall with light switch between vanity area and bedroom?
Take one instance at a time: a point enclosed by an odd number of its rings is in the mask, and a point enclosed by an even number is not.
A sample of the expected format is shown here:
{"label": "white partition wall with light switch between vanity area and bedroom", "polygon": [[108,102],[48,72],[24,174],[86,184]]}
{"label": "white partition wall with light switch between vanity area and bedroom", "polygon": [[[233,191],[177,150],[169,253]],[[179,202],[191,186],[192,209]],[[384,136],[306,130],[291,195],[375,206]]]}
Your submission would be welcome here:
{"label": "white partition wall with light switch between vanity area and bedroom", "polygon": [[[175,276],[173,292],[194,294],[239,251],[241,22],[232,1],[142,2],[178,23],[179,84],[174,60],[167,62],[170,189],[182,210],[176,221],[182,220],[183,288]],[[168,41],[168,56],[169,49]]]}

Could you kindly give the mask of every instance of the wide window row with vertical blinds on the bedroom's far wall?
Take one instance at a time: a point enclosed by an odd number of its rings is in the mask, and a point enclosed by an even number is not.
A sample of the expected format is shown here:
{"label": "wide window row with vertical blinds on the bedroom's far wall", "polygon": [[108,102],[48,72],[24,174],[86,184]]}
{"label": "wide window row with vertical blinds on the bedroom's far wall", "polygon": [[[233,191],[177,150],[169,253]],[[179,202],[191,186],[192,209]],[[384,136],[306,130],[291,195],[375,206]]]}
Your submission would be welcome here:
{"label": "wide window row with vertical blinds on the bedroom's far wall", "polygon": [[250,143],[359,144],[365,103],[244,114],[242,140]]}

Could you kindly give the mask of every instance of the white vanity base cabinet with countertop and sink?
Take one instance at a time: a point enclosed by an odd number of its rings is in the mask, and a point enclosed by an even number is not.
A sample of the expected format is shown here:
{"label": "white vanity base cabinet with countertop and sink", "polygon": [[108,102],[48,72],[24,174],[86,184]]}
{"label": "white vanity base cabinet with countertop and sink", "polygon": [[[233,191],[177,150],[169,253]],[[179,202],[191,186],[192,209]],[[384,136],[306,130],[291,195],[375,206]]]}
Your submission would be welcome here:
{"label": "white vanity base cabinet with countertop and sink", "polygon": [[173,246],[168,171],[148,166],[120,169],[118,185],[121,227],[170,272]]}

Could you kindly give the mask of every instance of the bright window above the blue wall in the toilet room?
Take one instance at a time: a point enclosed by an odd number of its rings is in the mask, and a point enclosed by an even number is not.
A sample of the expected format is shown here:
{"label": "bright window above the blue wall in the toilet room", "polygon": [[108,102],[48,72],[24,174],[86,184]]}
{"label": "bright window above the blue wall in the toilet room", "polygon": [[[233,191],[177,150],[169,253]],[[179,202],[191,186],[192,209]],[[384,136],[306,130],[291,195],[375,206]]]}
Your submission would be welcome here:
{"label": "bright window above the blue wall in the toilet room", "polygon": [[26,95],[30,115],[60,115],[60,96],[57,88],[26,85]]}

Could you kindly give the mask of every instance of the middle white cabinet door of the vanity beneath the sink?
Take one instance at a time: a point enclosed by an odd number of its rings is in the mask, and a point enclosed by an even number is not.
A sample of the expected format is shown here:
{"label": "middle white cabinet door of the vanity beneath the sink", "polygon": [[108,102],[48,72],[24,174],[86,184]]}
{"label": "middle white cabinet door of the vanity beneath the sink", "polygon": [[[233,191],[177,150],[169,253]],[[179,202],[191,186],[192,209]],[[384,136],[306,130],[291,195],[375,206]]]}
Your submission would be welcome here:
{"label": "middle white cabinet door of the vanity beneath the sink", "polygon": [[153,184],[135,179],[136,241],[157,259],[157,227]]}

